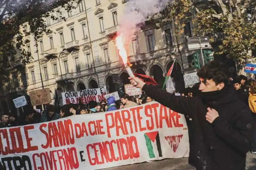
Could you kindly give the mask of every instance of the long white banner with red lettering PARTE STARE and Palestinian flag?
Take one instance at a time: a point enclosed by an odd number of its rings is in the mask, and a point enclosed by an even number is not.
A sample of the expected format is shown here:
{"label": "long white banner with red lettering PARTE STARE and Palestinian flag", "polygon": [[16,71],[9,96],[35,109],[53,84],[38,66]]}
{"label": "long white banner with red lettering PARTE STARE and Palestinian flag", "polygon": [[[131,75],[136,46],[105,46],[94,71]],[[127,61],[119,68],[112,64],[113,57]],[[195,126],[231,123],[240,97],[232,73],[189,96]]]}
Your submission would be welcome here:
{"label": "long white banner with red lettering PARTE STARE and Palestinian flag", "polygon": [[4,128],[0,134],[1,170],[94,170],[189,153],[184,115],[157,102]]}

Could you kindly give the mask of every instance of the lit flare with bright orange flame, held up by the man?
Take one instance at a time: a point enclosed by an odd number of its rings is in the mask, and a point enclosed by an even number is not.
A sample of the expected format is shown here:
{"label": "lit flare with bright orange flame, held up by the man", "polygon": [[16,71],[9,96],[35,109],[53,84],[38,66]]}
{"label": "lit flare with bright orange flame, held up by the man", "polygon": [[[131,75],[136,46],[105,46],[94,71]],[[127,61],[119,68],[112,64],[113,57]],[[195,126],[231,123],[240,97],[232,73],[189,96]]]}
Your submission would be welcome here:
{"label": "lit flare with bright orange flame, held up by the man", "polygon": [[123,62],[124,62],[124,67],[128,73],[128,75],[130,77],[134,77],[133,75],[133,72],[132,72],[132,69],[131,69],[131,66],[132,64],[128,61],[128,58],[127,58],[127,52],[123,46],[123,42],[122,42],[122,34],[118,35],[116,37],[116,45],[117,45],[117,49],[118,49],[118,53],[119,55],[122,57],[123,59]]}

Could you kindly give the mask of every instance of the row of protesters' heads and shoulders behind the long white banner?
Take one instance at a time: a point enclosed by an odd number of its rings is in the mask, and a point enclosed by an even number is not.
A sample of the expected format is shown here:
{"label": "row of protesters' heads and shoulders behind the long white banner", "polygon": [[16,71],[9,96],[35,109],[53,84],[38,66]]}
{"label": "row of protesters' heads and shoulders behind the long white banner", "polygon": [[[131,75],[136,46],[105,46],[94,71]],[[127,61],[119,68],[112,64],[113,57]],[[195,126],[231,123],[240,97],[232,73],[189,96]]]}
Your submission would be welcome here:
{"label": "row of protesters' heads and shoulders behind the long white banner", "polygon": [[122,108],[129,108],[151,102],[152,98],[142,94],[141,96],[129,96],[123,95],[120,100],[115,100],[115,97],[111,96],[106,101],[96,102],[90,101],[88,104],[67,104],[60,108],[54,105],[48,105],[46,111],[41,113],[35,109],[24,109],[24,114],[20,116],[13,115],[12,113],[3,113],[0,119],[0,128],[23,126],[34,123],[49,122],[58,120],[60,118],[72,116],[72,115],[84,115],[100,112],[113,111]]}

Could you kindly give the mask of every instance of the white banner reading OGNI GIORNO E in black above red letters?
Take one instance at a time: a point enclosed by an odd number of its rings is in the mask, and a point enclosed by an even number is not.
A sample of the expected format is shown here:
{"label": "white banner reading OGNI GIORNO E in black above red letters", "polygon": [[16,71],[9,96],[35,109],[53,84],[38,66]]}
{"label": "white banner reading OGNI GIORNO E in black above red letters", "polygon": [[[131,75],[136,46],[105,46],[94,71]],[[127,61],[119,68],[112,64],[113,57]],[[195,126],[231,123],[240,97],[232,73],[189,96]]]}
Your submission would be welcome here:
{"label": "white banner reading OGNI GIORNO E in black above red letters", "polygon": [[106,92],[106,86],[103,86],[97,89],[86,89],[79,92],[64,92],[61,93],[61,95],[63,99],[63,105],[70,103],[78,104],[79,100],[81,100],[82,103],[87,104],[91,100],[96,102],[105,100]]}

